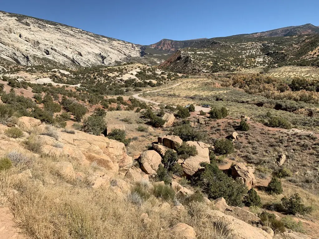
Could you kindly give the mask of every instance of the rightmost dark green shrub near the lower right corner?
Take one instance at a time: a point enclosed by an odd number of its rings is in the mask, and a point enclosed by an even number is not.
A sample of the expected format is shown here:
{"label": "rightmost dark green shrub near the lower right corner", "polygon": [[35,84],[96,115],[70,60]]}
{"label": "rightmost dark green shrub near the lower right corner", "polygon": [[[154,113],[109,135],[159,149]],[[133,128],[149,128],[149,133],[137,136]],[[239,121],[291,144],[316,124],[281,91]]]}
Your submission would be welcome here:
{"label": "rightmost dark green shrub near the lower right corner", "polygon": [[283,197],[281,199],[281,203],[287,209],[287,213],[293,215],[297,213],[304,215],[312,210],[311,207],[307,207],[302,203],[302,200],[298,193],[295,193],[290,198]]}

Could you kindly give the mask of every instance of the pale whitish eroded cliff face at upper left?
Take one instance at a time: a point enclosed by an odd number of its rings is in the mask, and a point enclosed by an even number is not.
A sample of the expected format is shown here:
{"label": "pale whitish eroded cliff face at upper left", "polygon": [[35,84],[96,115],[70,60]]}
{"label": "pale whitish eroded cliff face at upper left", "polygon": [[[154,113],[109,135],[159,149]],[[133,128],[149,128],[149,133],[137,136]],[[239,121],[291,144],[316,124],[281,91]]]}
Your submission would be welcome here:
{"label": "pale whitish eroded cliff face at upper left", "polygon": [[78,28],[0,12],[0,57],[22,65],[110,65],[140,56],[140,46]]}

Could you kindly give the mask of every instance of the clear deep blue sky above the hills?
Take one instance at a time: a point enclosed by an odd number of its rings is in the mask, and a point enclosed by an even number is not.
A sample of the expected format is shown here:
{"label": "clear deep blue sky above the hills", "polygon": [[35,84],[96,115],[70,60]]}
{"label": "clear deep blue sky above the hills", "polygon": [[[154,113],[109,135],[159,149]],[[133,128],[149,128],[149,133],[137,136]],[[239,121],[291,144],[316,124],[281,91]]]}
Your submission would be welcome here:
{"label": "clear deep blue sky above the hills", "polygon": [[0,0],[0,10],[129,42],[189,40],[319,25],[319,0]]}

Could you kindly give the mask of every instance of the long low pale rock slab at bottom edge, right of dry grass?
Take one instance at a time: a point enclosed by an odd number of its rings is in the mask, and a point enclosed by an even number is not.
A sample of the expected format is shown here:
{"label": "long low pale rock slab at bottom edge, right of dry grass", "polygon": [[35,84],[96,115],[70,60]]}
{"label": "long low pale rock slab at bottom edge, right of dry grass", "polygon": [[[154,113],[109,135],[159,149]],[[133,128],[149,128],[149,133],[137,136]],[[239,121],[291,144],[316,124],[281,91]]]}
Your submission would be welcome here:
{"label": "long low pale rock slab at bottom edge, right of dry grass", "polygon": [[272,239],[272,236],[261,228],[256,228],[247,222],[217,210],[210,211],[211,221],[222,222],[230,238],[236,239]]}

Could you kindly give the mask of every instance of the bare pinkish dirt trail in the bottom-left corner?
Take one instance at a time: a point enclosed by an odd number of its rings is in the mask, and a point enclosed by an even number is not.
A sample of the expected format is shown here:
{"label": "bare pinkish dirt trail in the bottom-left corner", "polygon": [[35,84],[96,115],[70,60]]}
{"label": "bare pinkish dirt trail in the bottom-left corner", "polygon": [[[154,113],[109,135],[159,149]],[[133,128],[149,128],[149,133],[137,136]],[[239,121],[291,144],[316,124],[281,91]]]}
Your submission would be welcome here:
{"label": "bare pinkish dirt trail in the bottom-left corner", "polygon": [[27,239],[15,226],[14,216],[8,207],[0,207],[0,239]]}

